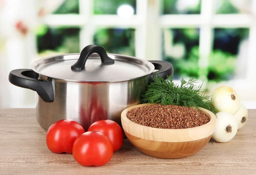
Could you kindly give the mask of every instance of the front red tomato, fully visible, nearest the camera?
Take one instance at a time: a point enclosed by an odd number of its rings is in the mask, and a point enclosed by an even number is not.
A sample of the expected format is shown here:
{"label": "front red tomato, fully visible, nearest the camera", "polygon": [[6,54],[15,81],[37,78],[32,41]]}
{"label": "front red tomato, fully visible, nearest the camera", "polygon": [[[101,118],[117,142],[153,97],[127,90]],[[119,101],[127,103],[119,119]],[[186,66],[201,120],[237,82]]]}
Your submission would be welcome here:
{"label": "front red tomato, fully visible, nearest the camera", "polygon": [[101,132],[85,132],[73,145],[73,156],[83,166],[102,166],[113,156],[113,147],[107,136]]}

